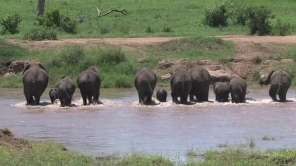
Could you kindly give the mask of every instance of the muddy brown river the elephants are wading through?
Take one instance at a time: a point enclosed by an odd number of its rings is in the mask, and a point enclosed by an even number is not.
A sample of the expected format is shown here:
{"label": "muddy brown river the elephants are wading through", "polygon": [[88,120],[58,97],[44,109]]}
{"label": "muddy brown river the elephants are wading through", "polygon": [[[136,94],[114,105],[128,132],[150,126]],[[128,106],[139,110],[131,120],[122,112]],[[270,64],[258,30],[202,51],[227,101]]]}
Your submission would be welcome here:
{"label": "muddy brown river the elephants are wading through", "polygon": [[[41,106],[25,106],[22,89],[0,89],[0,128],[95,156],[139,151],[185,156],[191,148],[222,149],[220,144],[240,145],[250,139],[262,150],[295,147],[296,87],[290,88],[287,103],[272,102],[267,86],[249,90],[247,97],[257,101],[176,105],[168,97],[167,103],[140,106],[134,88],[102,89],[105,105],[80,106],[76,89],[78,106],[61,108],[48,104],[48,90]],[[264,141],[265,135],[276,140]]]}

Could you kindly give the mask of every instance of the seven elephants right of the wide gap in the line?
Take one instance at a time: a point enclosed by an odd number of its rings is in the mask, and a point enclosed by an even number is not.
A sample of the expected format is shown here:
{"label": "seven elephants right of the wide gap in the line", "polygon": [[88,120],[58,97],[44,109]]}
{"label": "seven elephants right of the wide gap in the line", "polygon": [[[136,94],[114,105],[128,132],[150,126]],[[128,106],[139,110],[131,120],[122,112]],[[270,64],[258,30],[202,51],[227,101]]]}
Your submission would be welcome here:
{"label": "seven elephants right of the wide gap in the line", "polygon": [[[155,104],[151,98],[156,82],[157,77],[152,69],[143,67],[138,70],[134,84],[138,92],[140,104]],[[172,101],[188,104],[190,103],[187,100],[188,96],[191,102],[208,101],[210,83],[210,74],[202,66],[189,64],[186,69],[175,68],[171,71],[170,75]],[[269,73],[265,84],[270,84],[269,96],[273,101],[285,102],[286,94],[291,85],[291,75],[286,70],[273,70]],[[216,82],[213,89],[217,102],[228,102],[230,93],[232,103],[243,103],[248,93],[247,84],[240,77],[232,77],[227,84]],[[279,100],[277,100],[277,95]],[[167,92],[165,89],[157,90],[157,100],[166,102],[166,97]]]}

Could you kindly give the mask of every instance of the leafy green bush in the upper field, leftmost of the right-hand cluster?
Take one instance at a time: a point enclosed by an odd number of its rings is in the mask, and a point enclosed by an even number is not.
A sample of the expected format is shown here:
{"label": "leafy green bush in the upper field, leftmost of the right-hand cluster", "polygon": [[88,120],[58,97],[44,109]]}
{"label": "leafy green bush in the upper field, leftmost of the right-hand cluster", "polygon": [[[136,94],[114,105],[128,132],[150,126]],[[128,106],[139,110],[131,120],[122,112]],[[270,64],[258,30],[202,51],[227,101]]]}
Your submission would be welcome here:
{"label": "leafy green bush in the upper field, leftmost of the right-hand cluster", "polygon": [[226,27],[228,25],[228,14],[226,4],[207,8],[204,11],[203,23],[211,27]]}

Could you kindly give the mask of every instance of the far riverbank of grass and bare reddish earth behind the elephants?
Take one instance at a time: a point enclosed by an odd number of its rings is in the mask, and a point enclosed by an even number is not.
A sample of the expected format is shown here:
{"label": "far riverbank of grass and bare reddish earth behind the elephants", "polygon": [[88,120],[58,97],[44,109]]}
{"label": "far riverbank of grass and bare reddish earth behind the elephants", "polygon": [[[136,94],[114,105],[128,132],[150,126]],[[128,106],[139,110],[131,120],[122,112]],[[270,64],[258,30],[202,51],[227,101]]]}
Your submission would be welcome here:
{"label": "far riverbank of grass and bare reddish earth behind the elephants", "polygon": [[[97,66],[102,87],[132,87],[141,66],[155,70],[158,84],[169,85],[169,72],[188,62],[205,67],[213,82],[240,76],[248,84],[263,83],[272,69],[296,74],[296,36],[217,36],[183,38],[65,39],[59,41],[0,41],[0,87],[21,88],[25,63],[43,63],[49,87],[65,74],[76,80]],[[292,84],[296,85],[293,77]]]}

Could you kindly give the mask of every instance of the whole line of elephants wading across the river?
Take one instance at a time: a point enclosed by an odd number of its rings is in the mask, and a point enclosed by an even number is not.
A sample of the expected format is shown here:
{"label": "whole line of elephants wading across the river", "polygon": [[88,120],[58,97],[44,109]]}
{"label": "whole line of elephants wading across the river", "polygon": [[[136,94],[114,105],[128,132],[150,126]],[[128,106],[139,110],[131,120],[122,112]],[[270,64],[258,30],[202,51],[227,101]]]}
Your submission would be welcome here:
{"label": "whole line of elephants wading across the river", "polygon": [[[43,64],[30,63],[24,66],[22,82],[27,105],[39,105],[40,97],[47,87],[48,80],[48,74]],[[138,92],[141,105],[155,104],[152,95],[156,83],[157,77],[151,68],[142,67],[137,71],[134,86]],[[187,104],[190,103],[187,101],[188,96],[191,102],[208,101],[210,83],[210,74],[202,66],[189,64],[186,69],[175,68],[171,71],[170,76],[172,101]],[[286,70],[273,70],[265,84],[270,84],[269,96],[273,101],[285,102],[287,91],[291,85],[291,75]],[[96,67],[91,66],[81,72],[77,78],[77,85],[80,89],[83,105],[103,104],[99,100],[101,77]],[[217,102],[228,102],[230,93],[233,103],[242,103],[245,102],[245,95],[248,93],[247,84],[240,77],[231,78],[228,84],[214,83],[213,87]],[[74,81],[65,75],[56,84],[56,87],[50,90],[50,100],[54,103],[58,99],[61,106],[70,106],[75,89]],[[277,100],[277,95],[279,100]],[[165,89],[157,90],[157,100],[166,102],[166,98]]]}

